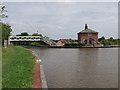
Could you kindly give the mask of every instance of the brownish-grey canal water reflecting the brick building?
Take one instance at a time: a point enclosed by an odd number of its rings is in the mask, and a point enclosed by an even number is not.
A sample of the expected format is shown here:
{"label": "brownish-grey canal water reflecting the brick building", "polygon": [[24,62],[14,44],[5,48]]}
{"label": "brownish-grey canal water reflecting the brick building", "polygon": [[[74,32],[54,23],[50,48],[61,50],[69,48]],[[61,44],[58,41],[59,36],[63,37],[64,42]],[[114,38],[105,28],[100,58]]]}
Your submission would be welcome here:
{"label": "brownish-grey canal water reflecting the brick building", "polygon": [[118,48],[31,48],[48,88],[117,88]]}

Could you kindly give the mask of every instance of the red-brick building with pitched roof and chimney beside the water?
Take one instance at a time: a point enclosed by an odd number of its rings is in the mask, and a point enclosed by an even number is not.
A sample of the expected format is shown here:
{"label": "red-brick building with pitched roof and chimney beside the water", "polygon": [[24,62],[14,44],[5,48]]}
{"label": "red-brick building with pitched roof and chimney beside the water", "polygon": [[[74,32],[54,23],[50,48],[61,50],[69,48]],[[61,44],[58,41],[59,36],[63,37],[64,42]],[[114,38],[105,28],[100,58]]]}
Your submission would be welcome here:
{"label": "red-brick building with pitched roof and chimney beside the water", "polygon": [[78,42],[83,42],[87,45],[94,45],[98,42],[98,32],[88,28],[85,24],[85,29],[78,33]]}

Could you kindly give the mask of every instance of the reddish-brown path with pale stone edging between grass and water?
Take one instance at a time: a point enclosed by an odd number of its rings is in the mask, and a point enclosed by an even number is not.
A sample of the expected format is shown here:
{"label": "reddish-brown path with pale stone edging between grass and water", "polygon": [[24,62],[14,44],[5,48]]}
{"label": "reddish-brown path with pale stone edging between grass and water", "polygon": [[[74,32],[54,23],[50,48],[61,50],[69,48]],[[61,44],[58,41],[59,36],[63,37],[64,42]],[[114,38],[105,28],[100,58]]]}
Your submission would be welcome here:
{"label": "reddish-brown path with pale stone edging between grass and water", "polygon": [[[30,50],[30,49],[28,49]],[[34,82],[32,88],[48,88],[47,82],[45,79],[44,68],[42,65],[42,60],[37,56],[37,54],[30,50],[32,55],[35,56],[36,62],[34,67]]]}

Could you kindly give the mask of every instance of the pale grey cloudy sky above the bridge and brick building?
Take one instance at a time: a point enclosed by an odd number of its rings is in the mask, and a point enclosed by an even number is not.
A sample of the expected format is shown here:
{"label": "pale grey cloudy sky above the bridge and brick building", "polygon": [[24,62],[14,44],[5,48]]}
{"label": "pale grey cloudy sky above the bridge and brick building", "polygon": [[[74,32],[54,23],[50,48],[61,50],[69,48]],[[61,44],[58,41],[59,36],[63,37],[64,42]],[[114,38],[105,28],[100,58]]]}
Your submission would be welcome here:
{"label": "pale grey cloudy sky above the bridge and brick building", "polygon": [[99,37],[118,37],[117,2],[6,2],[13,34],[37,31],[52,39],[77,39],[88,24]]}

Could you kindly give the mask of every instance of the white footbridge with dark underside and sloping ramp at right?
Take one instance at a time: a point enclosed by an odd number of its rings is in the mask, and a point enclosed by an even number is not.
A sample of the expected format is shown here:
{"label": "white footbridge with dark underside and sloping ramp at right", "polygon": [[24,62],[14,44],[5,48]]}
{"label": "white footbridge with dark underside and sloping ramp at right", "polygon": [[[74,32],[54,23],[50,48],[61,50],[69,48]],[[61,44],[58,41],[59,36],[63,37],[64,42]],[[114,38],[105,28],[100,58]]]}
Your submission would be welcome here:
{"label": "white footbridge with dark underside and sloping ramp at right", "polygon": [[55,42],[43,36],[10,36],[8,39],[11,42],[44,42],[50,46],[56,46]]}

